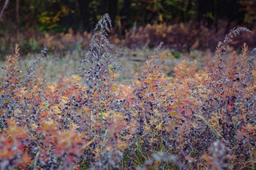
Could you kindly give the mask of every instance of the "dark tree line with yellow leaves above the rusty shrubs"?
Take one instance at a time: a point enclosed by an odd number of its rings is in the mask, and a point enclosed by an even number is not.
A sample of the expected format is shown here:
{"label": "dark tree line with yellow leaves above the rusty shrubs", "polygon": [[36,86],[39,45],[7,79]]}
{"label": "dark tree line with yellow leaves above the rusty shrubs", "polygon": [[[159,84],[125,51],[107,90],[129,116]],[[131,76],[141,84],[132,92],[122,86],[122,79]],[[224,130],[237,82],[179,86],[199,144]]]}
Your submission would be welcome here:
{"label": "dark tree line with yellow leaves above the rusty shrubs", "polygon": [[256,23],[254,9],[254,0],[2,0],[0,28],[91,31],[104,13],[109,13],[112,25],[121,33],[134,22],[195,22],[218,30],[219,20],[226,20],[227,25],[250,28]]}

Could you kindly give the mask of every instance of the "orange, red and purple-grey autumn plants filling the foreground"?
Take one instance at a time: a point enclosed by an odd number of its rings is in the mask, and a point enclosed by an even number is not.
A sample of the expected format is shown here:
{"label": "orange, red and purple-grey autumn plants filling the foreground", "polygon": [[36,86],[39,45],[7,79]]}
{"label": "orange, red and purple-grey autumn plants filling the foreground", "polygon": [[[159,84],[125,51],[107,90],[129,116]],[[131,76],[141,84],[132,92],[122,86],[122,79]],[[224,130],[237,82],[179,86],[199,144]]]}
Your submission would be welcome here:
{"label": "orange, red and purple-grey autumn plants filling the foreground", "polygon": [[162,72],[160,43],[133,83],[118,85],[110,24],[102,16],[76,74],[54,84],[40,67],[46,48],[26,73],[18,46],[7,56],[0,169],[253,169],[256,52],[226,50],[248,29],[218,43],[212,67],[182,61],[174,77]]}

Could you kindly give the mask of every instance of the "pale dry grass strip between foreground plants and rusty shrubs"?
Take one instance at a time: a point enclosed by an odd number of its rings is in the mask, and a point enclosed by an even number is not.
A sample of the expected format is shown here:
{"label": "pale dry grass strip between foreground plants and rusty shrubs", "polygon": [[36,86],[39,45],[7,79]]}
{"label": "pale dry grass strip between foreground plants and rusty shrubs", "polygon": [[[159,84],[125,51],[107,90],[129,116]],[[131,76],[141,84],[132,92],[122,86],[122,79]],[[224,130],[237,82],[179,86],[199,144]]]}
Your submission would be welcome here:
{"label": "pale dry grass strip between foreground plants and rusty shrubs", "polygon": [[[22,50],[22,49],[21,49]],[[149,55],[152,55],[154,52],[148,47],[143,47],[141,49],[129,49],[123,48],[119,51],[123,52],[123,55],[118,58],[120,65],[125,68],[125,71],[120,75],[117,75],[117,81],[125,84],[129,84],[133,76],[136,73],[139,73],[139,68],[142,68],[145,64],[145,60]],[[172,55],[175,54],[175,55]],[[19,61],[20,69],[24,72],[26,68],[29,67],[29,64],[35,60],[36,54],[29,54],[23,56]],[[160,52],[160,57],[163,61],[163,70],[164,72],[172,76],[173,69],[175,64],[180,63],[182,60],[194,62],[198,61],[199,65],[207,66],[210,61],[212,61],[211,56],[213,54],[209,51],[200,52],[192,51],[190,54],[174,52],[172,49],[162,49]],[[81,58],[75,52],[72,55],[66,55],[62,58],[58,58],[55,55],[47,55],[47,59],[41,61],[41,67],[43,70],[46,70],[46,80],[49,83],[56,82],[58,79],[65,79],[70,77],[72,74],[75,74],[75,68],[80,65]],[[3,62],[0,62],[0,67],[3,67]],[[0,82],[5,78],[5,70],[0,69]]]}

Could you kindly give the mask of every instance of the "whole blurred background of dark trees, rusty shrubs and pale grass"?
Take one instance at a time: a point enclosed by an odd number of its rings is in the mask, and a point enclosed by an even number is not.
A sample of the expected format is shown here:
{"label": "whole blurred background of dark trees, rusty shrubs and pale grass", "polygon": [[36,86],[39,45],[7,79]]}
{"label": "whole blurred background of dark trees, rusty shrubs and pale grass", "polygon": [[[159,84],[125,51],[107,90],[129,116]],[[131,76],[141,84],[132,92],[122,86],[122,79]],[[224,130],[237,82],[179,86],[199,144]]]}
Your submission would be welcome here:
{"label": "whole blurred background of dark trees, rusty shrubs and pale grass", "polygon": [[[228,52],[239,52],[242,43],[256,46],[255,0],[0,0],[0,61],[17,43],[25,58],[20,65],[26,70],[45,44],[48,58],[41,65],[47,80],[70,76],[105,13],[112,19],[108,38],[124,52],[118,59],[126,68],[120,81],[132,79],[162,41],[160,56],[167,76],[184,59],[197,60],[199,69],[209,67],[218,41],[234,27],[252,33],[234,38]],[[0,80],[4,75],[0,70]]]}

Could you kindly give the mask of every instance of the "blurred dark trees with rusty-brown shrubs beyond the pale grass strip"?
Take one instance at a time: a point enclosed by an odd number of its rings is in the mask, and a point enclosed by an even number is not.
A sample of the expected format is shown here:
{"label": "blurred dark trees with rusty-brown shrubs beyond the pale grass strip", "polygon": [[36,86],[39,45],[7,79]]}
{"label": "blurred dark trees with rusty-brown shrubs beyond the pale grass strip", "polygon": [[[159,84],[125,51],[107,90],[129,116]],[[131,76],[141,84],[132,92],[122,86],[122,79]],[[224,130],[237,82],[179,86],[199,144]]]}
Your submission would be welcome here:
{"label": "blurred dark trees with rusty-brown shrubs beyond the pale grass strip", "polygon": [[83,55],[104,13],[112,19],[111,43],[129,48],[163,41],[178,51],[215,50],[237,26],[253,31],[239,38],[255,46],[255,0],[0,0],[0,59],[15,43],[24,54],[46,43],[59,57]]}

